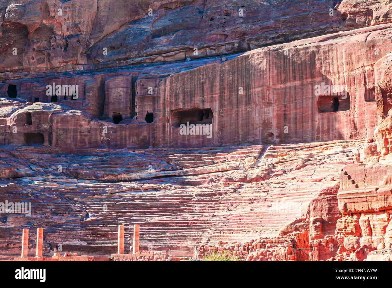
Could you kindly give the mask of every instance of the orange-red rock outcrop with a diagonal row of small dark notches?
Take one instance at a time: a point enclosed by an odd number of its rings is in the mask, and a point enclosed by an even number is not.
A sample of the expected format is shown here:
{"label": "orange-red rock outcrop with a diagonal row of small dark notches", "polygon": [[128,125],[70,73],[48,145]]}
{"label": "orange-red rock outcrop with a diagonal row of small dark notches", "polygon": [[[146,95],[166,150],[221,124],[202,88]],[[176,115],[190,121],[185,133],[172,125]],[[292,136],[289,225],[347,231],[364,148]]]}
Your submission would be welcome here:
{"label": "orange-red rock outcrop with a diagonal row of small dark notches", "polygon": [[336,233],[345,238],[347,250],[390,242],[390,173],[390,167],[379,164],[350,165],[341,172],[338,200],[343,217]]}

